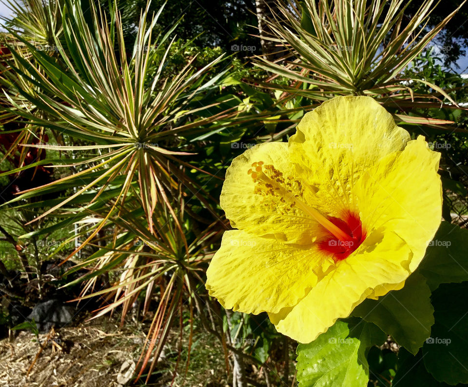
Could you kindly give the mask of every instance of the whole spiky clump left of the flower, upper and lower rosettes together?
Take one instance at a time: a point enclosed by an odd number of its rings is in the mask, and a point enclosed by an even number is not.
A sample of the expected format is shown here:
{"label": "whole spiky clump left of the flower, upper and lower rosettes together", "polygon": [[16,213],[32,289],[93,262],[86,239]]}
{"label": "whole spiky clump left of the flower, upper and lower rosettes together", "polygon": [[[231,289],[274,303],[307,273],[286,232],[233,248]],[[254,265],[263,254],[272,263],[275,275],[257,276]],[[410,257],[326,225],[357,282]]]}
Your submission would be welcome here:
{"label": "whole spiky clump left of the flower, upper and lower rosettes together", "polygon": [[[158,299],[140,359],[143,372],[153,356],[150,375],[169,329],[181,318],[182,306],[188,304],[193,314],[196,299],[202,314],[210,304],[203,272],[225,225],[207,219],[211,225],[205,229],[187,219],[190,204],[204,206],[218,218],[217,201],[193,178],[204,171],[191,158],[197,139],[219,132],[224,119],[238,114],[238,108],[232,102],[225,105],[230,97],[218,92],[217,81],[226,72],[215,73],[221,57],[200,69],[194,68],[192,58],[178,73],[165,76],[175,24],[152,39],[162,8],[154,17],[148,9],[141,14],[130,48],[123,41],[116,9],[112,20],[106,20],[101,8],[92,5],[89,26],[79,3],[71,0],[61,9],[57,55],[36,50],[11,30],[28,55],[6,43],[12,58],[2,67],[2,103],[8,113],[18,115],[15,122],[25,123],[15,129],[22,139],[44,131],[52,134],[47,144],[28,144],[47,152],[47,157],[15,171],[48,163],[58,179],[20,192],[8,205],[40,209],[33,222],[48,218],[54,223],[21,237],[78,228],[61,247],[82,237],[83,243],[67,258],[86,246],[95,251],[75,269],[91,267],[79,280],[87,281],[82,298],[101,296],[105,301],[96,316],[121,308],[123,323],[138,297],[144,297],[143,312]],[[10,153],[18,151],[17,145],[26,141],[16,141]],[[59,197],[44,196],[50,193]],[[112,284],[97,290],[100,274],[109,274]],[[218,336],[224,337],[222,326]]]}

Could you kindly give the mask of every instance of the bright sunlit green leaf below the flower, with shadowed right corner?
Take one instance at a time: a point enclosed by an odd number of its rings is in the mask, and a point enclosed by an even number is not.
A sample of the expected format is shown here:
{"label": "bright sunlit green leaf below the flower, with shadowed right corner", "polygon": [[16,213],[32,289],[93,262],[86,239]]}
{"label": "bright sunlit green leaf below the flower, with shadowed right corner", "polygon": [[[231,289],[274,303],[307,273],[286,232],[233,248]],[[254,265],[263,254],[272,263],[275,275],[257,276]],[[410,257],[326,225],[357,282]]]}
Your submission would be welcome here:
{"label": "bright sunlit green leaf below the flower, with shadowed right corner", "polygon": [[386,337],[377,326],[360,319],[337,321],[312,343],[297,347],[299,386],[367,386],[368,348],[382,344]]}

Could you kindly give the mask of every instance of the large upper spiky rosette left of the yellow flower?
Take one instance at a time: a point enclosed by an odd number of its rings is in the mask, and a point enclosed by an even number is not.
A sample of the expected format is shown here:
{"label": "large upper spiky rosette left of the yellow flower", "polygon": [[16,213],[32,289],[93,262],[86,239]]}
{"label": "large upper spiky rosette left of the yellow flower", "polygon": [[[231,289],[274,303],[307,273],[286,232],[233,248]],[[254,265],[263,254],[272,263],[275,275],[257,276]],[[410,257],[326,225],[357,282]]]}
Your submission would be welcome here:
{"label": "large upper spiky rosette left of the yellow flower", "polygon": [[[24,58],[10,46],[20,65],[11,64],[12,71],[6,76],[12,80],[20,77],[39,86],[35,93],[24,88],[18,91],[37,106],[41,114],[35,114],[7,97],[12,105],[8,110],[19,112],[30,124],[71,139],[72,145],[36,146],[80,151],[81,160],[70,165],[74,168],[84,166],[79,172],[52,184],[24,191],[26,196],[19,196],[18,200],[44,191],[79,187],[73,195],[52,205],[38,217],[42,218],[89,192],[92,187],[97,188],[96,194],[88,204],[96,203],[103,192],[119,184],[118,192],[113,191],[114,204],[86,242],[106,223],[117,204],[124,205],[129,195],[140,196],[152,233],[155,232],[152,214],[157,203],[164,203],[175,216],[170,198],[180,184],[211,208],[206,195],[184,169],[194,168],[186,161],[191,155],[186,150],[193,147],[190,140],[213,130],[209,127],[211,123],[232,114],[220,111],[220,102],[210,96],[223,72],[210,79],[208,74],[221,58],[197,71],[191,66],[192,60],[173,78],[163,79],[161,74],[171,45],[169,36],[175,25],[165,35],[152,40],[151,31],[161,10],[149,23],[148,7],[142,12],[130,59],[127,59],[128,47],[123,41],[117,10],[115,20],[111,20],[109,26],[100,8],[92,6],[94,33],[79,4],[67,1],[62,12],[66,46],[62,46],[58,39],[55,41],[59,58],[35,50],[26,39],[12,32],[30,49],[31,56]],[[149,80],[150,66],[155,65],[151,58],[157,58],[152,55],[152,50],[165,45],[165,54],[156,63],[156,75]],[[213,107],[218,108],[217,113],[207,114]],[[77,142],[84,145],[74,145]],[[131,189],[135,182],[138,187]]]}

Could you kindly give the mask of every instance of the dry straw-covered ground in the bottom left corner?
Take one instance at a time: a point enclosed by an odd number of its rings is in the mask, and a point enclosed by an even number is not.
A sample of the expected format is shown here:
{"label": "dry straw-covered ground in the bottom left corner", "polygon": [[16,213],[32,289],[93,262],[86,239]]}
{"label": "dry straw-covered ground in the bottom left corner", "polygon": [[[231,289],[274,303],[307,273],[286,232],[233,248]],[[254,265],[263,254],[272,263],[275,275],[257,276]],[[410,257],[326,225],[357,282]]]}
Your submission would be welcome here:
{"label": "dry straw-covered ground in the bottom left corner", "polygon": [[122,332],[112,325],[65,327],[49,340],[39,335],[44,349],[28,374],[40,344],[31,332],[21,331],[11,342],[0,341],[0,386],[117,387],[121,365],[135,357],[135,343],[142,339],[142,333]]}

